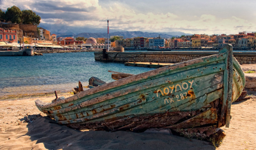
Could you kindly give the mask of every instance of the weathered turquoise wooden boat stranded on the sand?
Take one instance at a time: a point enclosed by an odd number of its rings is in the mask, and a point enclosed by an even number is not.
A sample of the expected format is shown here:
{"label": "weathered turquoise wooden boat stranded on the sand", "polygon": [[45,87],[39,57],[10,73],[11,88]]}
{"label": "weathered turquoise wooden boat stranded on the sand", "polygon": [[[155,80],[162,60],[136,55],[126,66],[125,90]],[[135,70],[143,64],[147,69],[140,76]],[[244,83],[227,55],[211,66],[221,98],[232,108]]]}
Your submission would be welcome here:
{"label": "weathered turquoise wooden boat stranded on the sand", "polygon": [[[226,45],[201,57],[102,84],[53,103],[36,100],[58,124],[78,129],[169,128],[199,138],[229,126],[230,107],[245,86]],[[191,137],[191,136],[190,136]],[[193,137],[192,137],[193,138]]]}

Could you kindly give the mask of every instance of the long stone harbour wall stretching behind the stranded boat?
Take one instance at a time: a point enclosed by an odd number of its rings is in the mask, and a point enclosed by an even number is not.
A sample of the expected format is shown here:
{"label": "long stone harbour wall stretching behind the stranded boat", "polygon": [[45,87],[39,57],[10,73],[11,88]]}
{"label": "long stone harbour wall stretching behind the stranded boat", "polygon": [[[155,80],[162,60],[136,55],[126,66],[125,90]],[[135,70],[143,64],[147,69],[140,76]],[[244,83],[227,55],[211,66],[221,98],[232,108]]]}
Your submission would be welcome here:
{"label": "long stone harbour wall stretching behind the stranded boat", "polygon": [[[107,52],[103,59],[102,52],[95,52],[96,61],[110,62],[151,62],[151,63],[179,63],[199,57],[218,54],[218,52]],[[256,53],[233,53],[240,64],[255,64]]]}

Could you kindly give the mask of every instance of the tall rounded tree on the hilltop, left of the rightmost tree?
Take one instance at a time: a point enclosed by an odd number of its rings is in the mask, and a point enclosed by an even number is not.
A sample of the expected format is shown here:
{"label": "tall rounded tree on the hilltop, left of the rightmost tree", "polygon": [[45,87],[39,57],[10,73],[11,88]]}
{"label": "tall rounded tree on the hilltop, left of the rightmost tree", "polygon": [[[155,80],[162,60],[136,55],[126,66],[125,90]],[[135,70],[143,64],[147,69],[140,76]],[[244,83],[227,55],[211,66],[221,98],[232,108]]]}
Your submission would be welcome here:
{"label": "tall rounded tree on the hilltop, left of the rightmost tree", "polygon": [[12,6],[11,8],[7,8],[5,13],[6,22],[11,21],[11,23],[20,23],[21,22],[22,11],[20,11],[19,7]]}

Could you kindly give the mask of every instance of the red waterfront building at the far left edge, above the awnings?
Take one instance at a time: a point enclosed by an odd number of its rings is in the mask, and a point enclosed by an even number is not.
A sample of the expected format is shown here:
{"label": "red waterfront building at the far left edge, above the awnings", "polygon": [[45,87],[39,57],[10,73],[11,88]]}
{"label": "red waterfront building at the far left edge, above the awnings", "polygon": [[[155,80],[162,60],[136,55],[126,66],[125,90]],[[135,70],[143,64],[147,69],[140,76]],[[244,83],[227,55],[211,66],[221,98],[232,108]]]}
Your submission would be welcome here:
{"label": "red waterfront building at the far left edge, above the awnings", "polygon": [[17,41],[18,39],[16,30],[4,30],[0,28],[0,42],[13,43]]}

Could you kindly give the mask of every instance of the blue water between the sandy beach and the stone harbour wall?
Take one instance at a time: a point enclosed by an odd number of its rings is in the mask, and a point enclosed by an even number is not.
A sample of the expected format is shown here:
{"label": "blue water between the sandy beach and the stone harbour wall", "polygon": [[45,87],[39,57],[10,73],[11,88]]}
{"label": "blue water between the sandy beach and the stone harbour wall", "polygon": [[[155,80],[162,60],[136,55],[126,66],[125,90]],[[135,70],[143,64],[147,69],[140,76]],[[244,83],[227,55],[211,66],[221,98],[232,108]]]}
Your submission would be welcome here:
{"label": "blue water between the sandy beach and the stone harbour wall", "polygon": [[78,81],[86,86],[91,76],[114,81],[108,70],[139,74],[152,69],[95,61],[94,52],[0,57],[0,96],[71,91]]}

